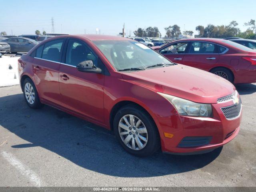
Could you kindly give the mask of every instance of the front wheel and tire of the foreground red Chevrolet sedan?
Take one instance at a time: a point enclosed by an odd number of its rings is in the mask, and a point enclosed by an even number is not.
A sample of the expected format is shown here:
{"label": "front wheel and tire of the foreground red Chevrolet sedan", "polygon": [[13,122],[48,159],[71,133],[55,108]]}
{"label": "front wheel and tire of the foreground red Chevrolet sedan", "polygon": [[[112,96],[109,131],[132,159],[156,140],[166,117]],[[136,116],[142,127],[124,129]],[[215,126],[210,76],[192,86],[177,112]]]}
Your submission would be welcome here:
{"label": "front wheel and tire of the foreground red Chevrolet sedan", "polygon": [[160,137],[154,121],[144,109],[134,104],[118,110],[113,127],[124,150],[132,155],[150,156],[160,147]]}

